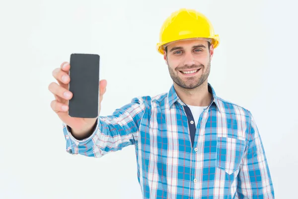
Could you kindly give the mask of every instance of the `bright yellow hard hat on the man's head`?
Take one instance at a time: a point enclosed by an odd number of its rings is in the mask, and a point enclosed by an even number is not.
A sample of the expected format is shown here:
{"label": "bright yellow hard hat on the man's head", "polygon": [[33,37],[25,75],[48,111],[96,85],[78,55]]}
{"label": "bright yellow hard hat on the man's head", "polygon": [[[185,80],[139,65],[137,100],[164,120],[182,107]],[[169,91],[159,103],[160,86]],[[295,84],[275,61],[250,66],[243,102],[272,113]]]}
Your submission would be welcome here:
{"label": "bright yellow hard hat on the man's head", "polygon": [[184,39],[204,39],[214,48],[220,43],[219,35],[214,34],[214,28],[205,15],[194,9],[181,8],[163,22],[156,50],[163,55],[166,45]]}

